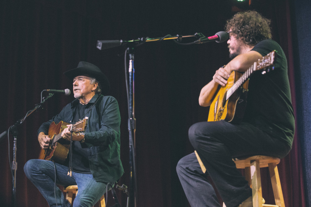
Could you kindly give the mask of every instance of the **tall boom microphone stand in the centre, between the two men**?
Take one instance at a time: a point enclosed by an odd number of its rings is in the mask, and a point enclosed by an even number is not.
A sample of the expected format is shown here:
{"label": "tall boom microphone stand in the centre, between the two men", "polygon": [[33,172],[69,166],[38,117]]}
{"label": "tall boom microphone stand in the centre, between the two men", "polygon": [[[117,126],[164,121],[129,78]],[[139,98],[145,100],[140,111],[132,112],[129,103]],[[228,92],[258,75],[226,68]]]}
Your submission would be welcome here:
{"label": "tall boom microphone stand in the centre, between the two men", "polygon": [[[181,43],[183,37],[195,37],[197,40],[191,43]],[[136,130],[136,119],[134,117],[134,48],[135,46],[141,45],[145,42],[155,42],[162,40],[171,40],[173,39],[177,44],[200,44],[203,43],[202,39],[205,36],[202,33],[195,33],[194,35],[166,35],[161,38],[138,38],[135,40],[123,41],[123,40],[97,40],[96,47],[100,50],[118,47],[121,45],[130,45],[125,52],[125,68],[126,64],[126,55],[128,53],[128,73],[129,77],[127,79],[126,75],[126,87],[127,87],[127,96],[128,96],[128,131],[129,131],[129,164],[130,164],[130,189],[129,189],[129,204],[130,207],[137,206],[137,180],[136,180],[136,168],[135,168],[135,130]],[[127,71],[126,71],[127,72]],[[129,80],[129,81],[128,81]]]}

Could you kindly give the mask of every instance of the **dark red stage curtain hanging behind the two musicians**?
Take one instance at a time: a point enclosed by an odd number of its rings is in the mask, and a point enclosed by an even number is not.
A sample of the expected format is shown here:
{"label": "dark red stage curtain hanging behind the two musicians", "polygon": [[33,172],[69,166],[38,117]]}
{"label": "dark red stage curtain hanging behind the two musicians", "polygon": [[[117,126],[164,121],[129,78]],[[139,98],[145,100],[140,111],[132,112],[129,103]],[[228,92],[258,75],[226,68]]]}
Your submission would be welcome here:
{"label": "dark red stage curtain hanging behind the two musicians", "polygon": [[[273,39],[288,58],[292,101],[295,103],[294,57],[291,41],[290,0],[251,1],[251,8],[272,19]],[[222,31],[236,11],[249,9],[231,0],[183,1],[50,1],[4,0],[0,7],[0,133],[7,130],[40,102],[44,89],[72,89],[63,72],[79,61],[102,69],[111,82],[109,95],[120,106],[121,159],[125,174],[120,184],[129,185],[127,99],[124,75],[125,48],[100,51],[97,40],[130,40],[166,34],[211,36]],[[208,108],[198,105],[201,88],[216,69],[229,62],[225,43],[179,46],[172,41],[148,43],[135,50],[135,117],[137,206],[188,206],[176,174],[180,158],[193,152],[188,128],[206,121]],[[44,94],[46,96],[47,94]],[[58,113],[71,96],[55,94],[18,127],[16,206],[47,206],[45,199],[26,178],[23,166],[36,159],[40,124]],[[296,110],[295,110],[296,111]],[[10,146],[8,146],[8,143]],[[0,204],[12,206],[13,140],[1,141]],[[10,150],[10,152],[9,152]],[[307,207],[299,132],[293,148],[278,165],[286,206]],[[273,203],[268,171],[262,169],[263,196]],[[122,206],[126,195],[117,192]],[[106,198],[107,199],[107,198]],[[114,204],[111,194],[108,205]]]}

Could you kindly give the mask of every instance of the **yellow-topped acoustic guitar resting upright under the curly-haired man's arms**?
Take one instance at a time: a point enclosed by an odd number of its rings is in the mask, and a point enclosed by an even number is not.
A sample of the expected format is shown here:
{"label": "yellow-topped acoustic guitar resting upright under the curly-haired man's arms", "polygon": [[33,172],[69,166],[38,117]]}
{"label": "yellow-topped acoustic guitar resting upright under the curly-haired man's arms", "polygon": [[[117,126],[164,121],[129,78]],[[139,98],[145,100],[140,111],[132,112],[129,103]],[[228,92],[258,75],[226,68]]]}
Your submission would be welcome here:
{"label": "yellow-topped acoustic guitar resting upright under the curly-haired man's arms", "polygon": [[208,122],[225,120],[240,122],[244,116],[249,77],[255,71],[262,70],[262,74],[274,70],[276,50],[254,62],[244,73],[232,71],[225,86],[220,86],[214,97],[208,113]]}

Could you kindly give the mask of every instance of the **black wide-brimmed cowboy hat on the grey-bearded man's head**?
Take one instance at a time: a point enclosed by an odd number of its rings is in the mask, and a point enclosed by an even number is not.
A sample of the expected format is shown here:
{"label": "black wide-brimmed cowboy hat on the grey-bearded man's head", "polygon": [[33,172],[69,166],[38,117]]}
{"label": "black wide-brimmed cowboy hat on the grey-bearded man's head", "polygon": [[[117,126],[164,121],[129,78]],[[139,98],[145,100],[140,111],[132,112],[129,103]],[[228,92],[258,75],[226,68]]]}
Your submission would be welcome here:
{"label": "black wide-brimmed cowboy hat on the grey-bearded man's head", "polygon": [[65,76],[73,79],[77,76],[89,76],[100,82],[102,94],[106,94],[110,89],[110,83],[107,76],[99,69],[99,67],[89,62],[79,62],[78,67],[64,72]]}

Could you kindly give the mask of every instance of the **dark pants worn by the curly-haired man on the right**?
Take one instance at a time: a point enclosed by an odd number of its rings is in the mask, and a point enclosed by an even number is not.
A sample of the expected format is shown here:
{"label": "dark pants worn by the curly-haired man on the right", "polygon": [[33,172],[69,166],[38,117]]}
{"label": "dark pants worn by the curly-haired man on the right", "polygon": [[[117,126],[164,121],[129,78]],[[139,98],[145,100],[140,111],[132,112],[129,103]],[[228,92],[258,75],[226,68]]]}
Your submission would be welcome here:
{"label": "dark pants worn by the curly-haired man on the right", "polygon": [[[189,140],[227,207],[237,206],[252,195],[232,157],[268,155],[283,158],[290,151],[287,144],[249,123],[199,122],[190,127]],[[192,207],[220,206],[194,153],[180,159],[176,170]]]}

